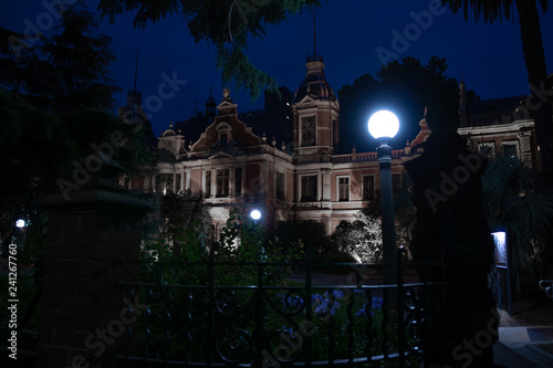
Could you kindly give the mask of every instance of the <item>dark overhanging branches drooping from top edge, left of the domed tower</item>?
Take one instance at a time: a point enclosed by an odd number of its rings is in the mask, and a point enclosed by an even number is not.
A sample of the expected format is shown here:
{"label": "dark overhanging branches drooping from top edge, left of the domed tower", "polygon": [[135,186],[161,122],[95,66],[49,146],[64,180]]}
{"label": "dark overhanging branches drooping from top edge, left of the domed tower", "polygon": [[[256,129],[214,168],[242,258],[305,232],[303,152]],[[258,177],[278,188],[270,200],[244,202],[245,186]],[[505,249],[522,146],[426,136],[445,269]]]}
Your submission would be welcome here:
{"label": "dark overhanging branches drooping from top edge, left of the domed tower", "polygon": [[116,14],[133,12],[134,25],[145,28],[167,15],[186,19],[196,42],[207,41],[217,50],[217,64],[225,84],[234,80],[247,87],[252,98],[264,87],[278,91],[273,77],[260,71],[248,59],[248,41],[262,39],[268,24],[278,24],[304,8],[320,6],[321,0],[101,0],[98,9],[109,21]]}

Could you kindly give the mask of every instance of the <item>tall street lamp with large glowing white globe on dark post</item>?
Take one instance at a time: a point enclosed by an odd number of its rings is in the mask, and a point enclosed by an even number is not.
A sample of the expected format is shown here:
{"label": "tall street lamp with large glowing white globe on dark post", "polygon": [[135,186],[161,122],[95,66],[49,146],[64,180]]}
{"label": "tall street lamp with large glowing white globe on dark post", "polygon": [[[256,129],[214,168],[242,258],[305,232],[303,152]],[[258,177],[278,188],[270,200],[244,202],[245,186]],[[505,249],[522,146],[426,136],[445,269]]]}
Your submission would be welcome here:
{"label": "tall street lamp with large glowing white globe on dark post", "polygon": [[399,130],[399,120],[388,111],[379,111],[368,119],[368,133],[378,140],[378,165],[380,166],[380,212],[382,240],[384,246],[384,283],[397,284],[397,274],[393,264],[396,262],[396,229],[394,220],[394,193],[392,188],[392,147],[388,140]]}

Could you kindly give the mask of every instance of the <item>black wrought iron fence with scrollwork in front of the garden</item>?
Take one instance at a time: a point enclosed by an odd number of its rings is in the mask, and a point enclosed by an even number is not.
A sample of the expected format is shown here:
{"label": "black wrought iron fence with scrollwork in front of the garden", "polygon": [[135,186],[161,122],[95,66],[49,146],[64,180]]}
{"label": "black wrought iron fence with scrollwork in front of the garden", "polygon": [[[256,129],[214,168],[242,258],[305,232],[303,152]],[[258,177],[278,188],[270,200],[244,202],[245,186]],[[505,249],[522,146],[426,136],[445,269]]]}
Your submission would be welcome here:
{"label": "black wrought iron fence with scrollwork in front of the garden", "polygon": [[421,351],[447,336],[447,283],[418,282],[401,253],[397,260],[397,285],[382,284],[371,264],[332,264],[348,271],[333,277],[320,273],[328,264],[310,262],[145,264],[142,281],[116,280],[143,311],[113,359],[138,367],[420,366]]}

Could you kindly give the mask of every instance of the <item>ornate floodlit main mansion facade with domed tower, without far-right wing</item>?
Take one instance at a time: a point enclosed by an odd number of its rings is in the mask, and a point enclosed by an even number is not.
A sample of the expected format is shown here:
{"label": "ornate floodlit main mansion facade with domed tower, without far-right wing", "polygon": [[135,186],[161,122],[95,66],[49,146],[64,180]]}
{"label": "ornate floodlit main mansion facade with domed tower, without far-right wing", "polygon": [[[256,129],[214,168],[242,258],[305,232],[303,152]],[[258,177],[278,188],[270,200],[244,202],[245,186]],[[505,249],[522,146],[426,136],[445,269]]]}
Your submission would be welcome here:
{"label": "ornate floodlit main mansion facade with domed tower, without far-right wing", "polygon": [[[170,160],[158,164],[155,177],[145,178],[145,190],[163,192],[190,189],[205,193],[215,222],[223,223],[230,208],[257,208],[264,225],[288,219],[316,220],[332,233],[342,220],[378,197],[379,167],[376,151],[335,155],[338,145],[340,104],[324,76],[320,56],[310,57],[306,74],[295,92],[279,137],[241,122],[230,91],[217,106],[212,123],[194,141],[184,129],[169,127],[158,138],[158,149]],[[399,182],[403,164],[420,154],[430,132],[426,120],[413,141],[393,151],[392,172]],[[190,137],[190,135],[188,135]]]}

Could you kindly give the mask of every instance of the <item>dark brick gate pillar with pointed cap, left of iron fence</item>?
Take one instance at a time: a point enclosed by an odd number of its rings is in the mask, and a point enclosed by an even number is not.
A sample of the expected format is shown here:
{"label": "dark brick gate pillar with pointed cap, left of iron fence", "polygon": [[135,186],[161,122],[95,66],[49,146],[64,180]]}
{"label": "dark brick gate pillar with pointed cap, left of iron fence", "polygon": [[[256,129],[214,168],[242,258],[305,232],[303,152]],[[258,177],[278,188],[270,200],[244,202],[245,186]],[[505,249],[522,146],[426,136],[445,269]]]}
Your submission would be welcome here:
{"label": "dark brick gate pillar with pointed cap, left of iron fence", "polygon": [[142,219],[152,207],[128,196],[115,183],[114,175],[113,164],[104,162],[102,175],[69,198],[55,194],[41,200],[49,213],[49,229],[36,359],[40,368],[108,367],[102,362],[128,346],[124,330],[142,313],[135,305],[139,301],[124,298],[113,277],[137,280]]}

